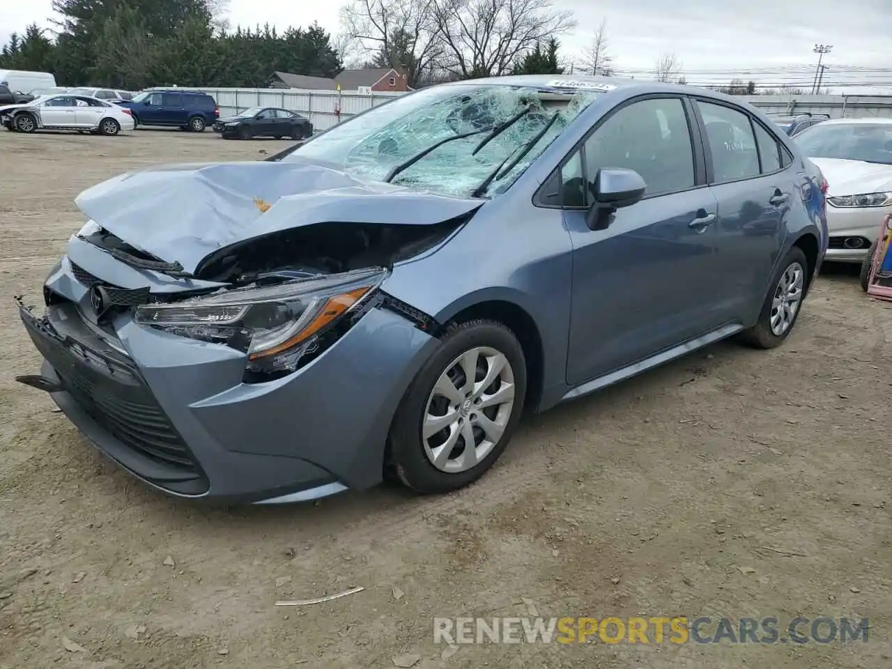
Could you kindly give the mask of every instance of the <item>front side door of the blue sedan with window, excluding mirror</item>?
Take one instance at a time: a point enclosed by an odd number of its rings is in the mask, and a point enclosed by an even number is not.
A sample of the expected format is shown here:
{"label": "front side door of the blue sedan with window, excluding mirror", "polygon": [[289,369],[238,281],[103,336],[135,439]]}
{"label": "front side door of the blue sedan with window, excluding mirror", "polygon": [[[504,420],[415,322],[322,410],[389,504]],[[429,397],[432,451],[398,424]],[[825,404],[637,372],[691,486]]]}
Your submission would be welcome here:
{"label": "front side door of the blue sedan with window, excluding mirror", "polygon": [[[561,168],[574,247],[567,382],[647,359],[717,325],[716,202],[690,103],[637,98],[601,120]],[[603,230],[586,213],[599,169],[634,169],[647,190]]]}

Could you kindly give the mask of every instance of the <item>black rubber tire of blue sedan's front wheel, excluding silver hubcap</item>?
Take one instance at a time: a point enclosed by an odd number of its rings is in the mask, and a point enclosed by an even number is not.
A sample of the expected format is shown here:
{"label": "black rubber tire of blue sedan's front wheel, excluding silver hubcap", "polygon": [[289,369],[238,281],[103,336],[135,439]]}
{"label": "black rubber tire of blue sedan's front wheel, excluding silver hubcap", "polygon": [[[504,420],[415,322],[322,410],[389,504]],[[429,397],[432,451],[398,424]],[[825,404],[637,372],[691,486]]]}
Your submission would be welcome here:
{"label": "black rubber tire of blue sedan's front wheel, excluding silver hubcap", "polygon": [[[425,454],[421,426],[427,410],[427,401],[439,377],[451,367],[450,363],[478,346],[485,346],[502,353],[514,374],[514,406],[499,441],[490,452],[471,467],[458,473],[447,473],[437,467]],[[524,350],[508,327],[497,321],[472,320],[449,326],[440,348],[418,371],[415,379],[403,395],[393,417],[388,437],[386,468],[389,474],[413,491],[422,494],[449,492],[463,488],[480,478],[511,441],[511,436],[524,410],[526,392],[526,361]]]}

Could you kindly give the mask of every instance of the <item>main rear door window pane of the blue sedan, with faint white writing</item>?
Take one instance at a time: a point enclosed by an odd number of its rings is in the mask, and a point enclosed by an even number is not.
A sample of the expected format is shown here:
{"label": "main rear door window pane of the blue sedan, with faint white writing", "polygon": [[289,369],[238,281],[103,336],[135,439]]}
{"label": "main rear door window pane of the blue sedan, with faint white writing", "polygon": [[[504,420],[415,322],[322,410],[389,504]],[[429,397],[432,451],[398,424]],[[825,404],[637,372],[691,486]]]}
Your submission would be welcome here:
{"label": "main rear door window pane of the blue sedan, with faint white writing", "polygon": [[697,101],[713,158],[713,181],[759,176],[759,153],[749,115],[722,104]]}

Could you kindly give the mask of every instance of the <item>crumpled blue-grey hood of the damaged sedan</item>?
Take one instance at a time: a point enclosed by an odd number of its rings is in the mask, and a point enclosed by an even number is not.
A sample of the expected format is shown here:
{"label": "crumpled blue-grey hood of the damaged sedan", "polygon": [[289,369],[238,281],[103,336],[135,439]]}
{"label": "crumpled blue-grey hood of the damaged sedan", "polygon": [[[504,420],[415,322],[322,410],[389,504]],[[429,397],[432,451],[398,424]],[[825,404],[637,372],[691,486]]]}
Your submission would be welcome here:
{"label": "crumpled blue-grey hood of the damaged sedan", "polygon": [[297,161],[161,166],[111,178],[75,203],[113,235],[187,272],[224,246],[279,230],[326,222],[434,225],[483,204]]}

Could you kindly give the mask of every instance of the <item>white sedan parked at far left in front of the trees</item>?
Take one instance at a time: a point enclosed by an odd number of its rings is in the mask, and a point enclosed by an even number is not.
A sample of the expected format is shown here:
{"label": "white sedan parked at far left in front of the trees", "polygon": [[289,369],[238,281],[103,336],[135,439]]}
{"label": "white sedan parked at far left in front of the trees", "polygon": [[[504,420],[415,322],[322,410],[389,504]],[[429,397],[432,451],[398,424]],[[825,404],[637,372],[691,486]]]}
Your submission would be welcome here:
{"label": "white sedan parked at far left in front of the trees", "polygon": [[46,128],[117,135],[134,128],[130,110],[95,97],[67,94],[0,107],[0,124],[26,133]]}

